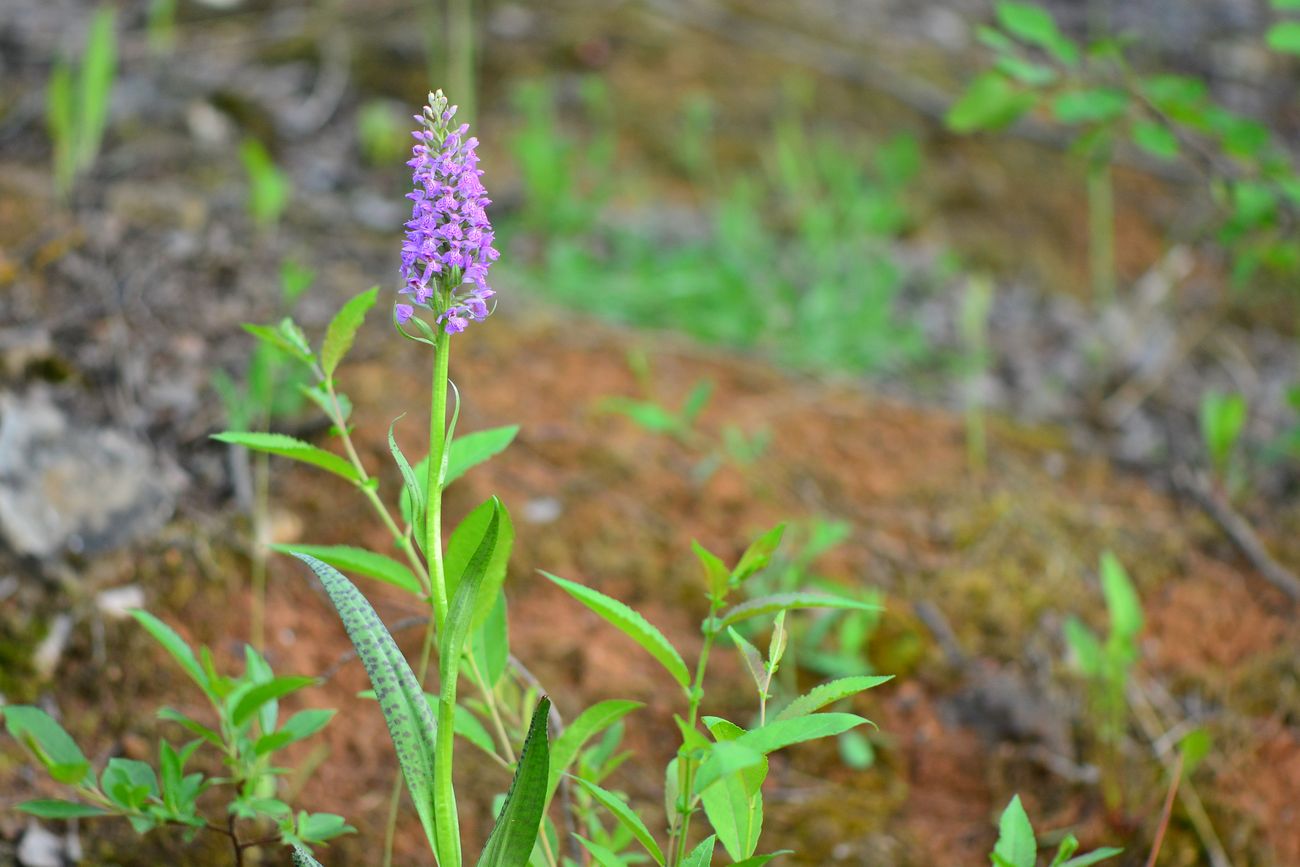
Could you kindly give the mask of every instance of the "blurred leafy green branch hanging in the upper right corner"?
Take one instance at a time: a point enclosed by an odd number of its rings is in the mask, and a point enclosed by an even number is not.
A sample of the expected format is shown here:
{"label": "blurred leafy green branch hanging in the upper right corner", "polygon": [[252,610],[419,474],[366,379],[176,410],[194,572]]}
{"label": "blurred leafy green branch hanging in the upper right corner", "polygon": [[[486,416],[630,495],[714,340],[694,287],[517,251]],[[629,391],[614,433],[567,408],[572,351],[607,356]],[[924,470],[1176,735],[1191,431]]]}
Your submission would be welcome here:
{"label": "blurred leafy green branch hanging in the upper right corner", "polygon": [[994,18],[996,27],[978,31],[993,53],[992,65],[952,105],[948,126],[957,133],[1000,130],[1037,110],[1071,130],[1074,151],[1088,173],[1091,270],[1098,303],[1113,298],[1109,175],[1123,144],[1158,161],[1180,160],[1205,177],[1219,205],[1216,239],[1232,256],[1238,285],[1261,268],[1283,277],[1300,272],[1292,231],[1300,175],[1266,126],[1223,108],[1197,78],[1139,73],[1122,38],[1080,45],[1045,9],[1011,0],[994,5]]}

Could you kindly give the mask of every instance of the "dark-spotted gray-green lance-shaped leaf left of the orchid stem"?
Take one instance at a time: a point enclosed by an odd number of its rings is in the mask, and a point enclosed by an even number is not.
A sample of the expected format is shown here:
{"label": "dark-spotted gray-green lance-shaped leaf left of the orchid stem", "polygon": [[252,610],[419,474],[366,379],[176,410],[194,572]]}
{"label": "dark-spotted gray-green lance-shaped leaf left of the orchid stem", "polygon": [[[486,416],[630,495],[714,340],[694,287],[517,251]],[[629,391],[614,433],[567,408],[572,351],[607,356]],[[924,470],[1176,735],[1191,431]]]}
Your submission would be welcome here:
{"label": "dark-spotted gray-green lance-shaped leaf left of the orchid stem", "polygon": [[434,727],[429,703],[415,673],[389,634],[380,615],[361,591],[338,569],[308,554],[295,556],[311,567],[325,593],[343,620],[347,637],[365,666],[374,695],[384,711],[389,736],[398,754],[398,766],[406,777],[424,833],[433,844],[434,835]]}

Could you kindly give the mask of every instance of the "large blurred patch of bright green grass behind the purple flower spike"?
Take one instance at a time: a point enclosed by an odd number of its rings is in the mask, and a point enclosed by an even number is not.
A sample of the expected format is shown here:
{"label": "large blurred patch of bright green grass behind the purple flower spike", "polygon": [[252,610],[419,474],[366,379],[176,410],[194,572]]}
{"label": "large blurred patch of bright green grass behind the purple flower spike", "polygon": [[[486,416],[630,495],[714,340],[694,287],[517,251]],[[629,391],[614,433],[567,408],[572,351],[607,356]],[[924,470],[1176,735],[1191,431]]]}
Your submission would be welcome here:
{"label": "large blurred patch of bright green grass behind the purple flower spike", "polygon": [[[915,220],[915,138],[845,147],[840,136],[810,134],[790,108],[762,172],[723,179],[712,162],[688,169],[718,175],[716,198],[703,213],[660,227],[649,216],[611,218],[611,200],[634,201],[637,190],[614,172],[603,86],[585,91],[584,103],[593,131],[577,138],[560,127],[545,86],[516,97],[525,122],[512,149],[524,204],[502,233],[536,239],[529,277],[551,300],[703,342],[770,348],[801,368],[879,372],[927,355],[919,328],[897,315],[904,272],[890,250]],[[712,149],[708,110],[698,105],[688,110],[692,134],[677,143],[688,166]]]}

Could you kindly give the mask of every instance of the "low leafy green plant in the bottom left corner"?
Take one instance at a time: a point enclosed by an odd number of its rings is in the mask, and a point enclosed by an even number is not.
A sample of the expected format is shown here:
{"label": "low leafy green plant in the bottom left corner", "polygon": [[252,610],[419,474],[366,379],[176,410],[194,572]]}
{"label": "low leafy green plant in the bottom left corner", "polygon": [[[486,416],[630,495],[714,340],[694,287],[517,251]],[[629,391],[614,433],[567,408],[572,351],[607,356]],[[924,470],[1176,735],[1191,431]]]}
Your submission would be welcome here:
{"label": "low leafy green plant in the bottom left corner", "polygon": [[[265,658],[244,646],[244,671],[237,677],[217,672],[207,647],[194,650],[165,623],[144,611],[136,621],[172,656],[212,706],[217,725],[209,727],[179,711],[164,707],[159,719],[174,723],[194,736],[182,746],[159,741],[155,768],[138,759],[112,758],[98,776],[75,741],[53,718],[38,707],[0,708],[9,734],[22,744],[47,773],[73,786],[75,801],[38,799],[18,810],[42,819],[88,819],[117,816],[130,822],[136,833],[161,825],[183,828],[186,841],[200,831],[230,840],[235,863],[244,851],[278,844],[309,848],[355,829],[343,816],[328,812],[294,812],[280,799],[280,751],[320,732],[333,710],[303,710],[281,721],[280,699],[316,682],[313,677],[277,677]],[[225,767],[220,776],[186,773],[186,764],[200,750],[212,747]],[[229,790],[217,816],[200,807],[200,799],[217,789]],[[251,825],[251,828],[250,828]],[[268,835],[268,829],[274,832]]]}

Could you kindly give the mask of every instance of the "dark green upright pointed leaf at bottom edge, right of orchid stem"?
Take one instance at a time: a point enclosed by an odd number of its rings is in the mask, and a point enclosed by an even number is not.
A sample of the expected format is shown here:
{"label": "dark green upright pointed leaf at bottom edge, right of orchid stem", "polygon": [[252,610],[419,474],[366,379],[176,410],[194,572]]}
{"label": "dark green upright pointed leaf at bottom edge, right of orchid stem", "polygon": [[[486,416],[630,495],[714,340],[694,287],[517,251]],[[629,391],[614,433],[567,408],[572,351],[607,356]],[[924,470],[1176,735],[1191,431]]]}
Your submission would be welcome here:
{"label": "dark green upright pointed leaf at bottom edge, right of orchid stem", "polygon": [[543,697],[533,711],[515,779],[478,858],[478,867],[520,867],[528,863],[546,810],[546,780],[550,773],[546,718],[550,710],[551,702]]}

